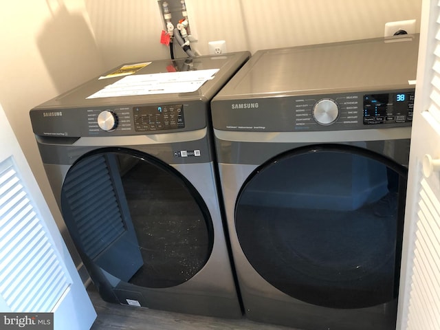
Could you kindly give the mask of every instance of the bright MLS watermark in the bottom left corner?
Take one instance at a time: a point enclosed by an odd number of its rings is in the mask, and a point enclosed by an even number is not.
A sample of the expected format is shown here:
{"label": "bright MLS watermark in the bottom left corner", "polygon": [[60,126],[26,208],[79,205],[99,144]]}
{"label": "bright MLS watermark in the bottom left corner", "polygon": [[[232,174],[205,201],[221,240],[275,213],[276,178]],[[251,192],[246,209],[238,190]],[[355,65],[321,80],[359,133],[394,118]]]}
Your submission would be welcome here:
{"label": "bright MLS watermark in the bottom left corner", "polygon": [[53,313],[0,313],[0,330],[54,330]]}

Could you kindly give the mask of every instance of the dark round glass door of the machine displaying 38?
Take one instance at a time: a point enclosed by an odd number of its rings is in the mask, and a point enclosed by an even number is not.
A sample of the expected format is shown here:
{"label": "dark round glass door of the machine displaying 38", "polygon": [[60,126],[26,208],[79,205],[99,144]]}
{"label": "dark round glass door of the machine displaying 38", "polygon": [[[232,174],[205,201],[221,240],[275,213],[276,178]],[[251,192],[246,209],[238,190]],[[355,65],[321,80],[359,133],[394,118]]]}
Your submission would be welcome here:
{"label": "dark round glass door of the machine displaying 38", "polygon": [[397,297],[406,168],[362,148],[298,148],[257,168],[236,201],[248,261],[306,303],[380,305]]}

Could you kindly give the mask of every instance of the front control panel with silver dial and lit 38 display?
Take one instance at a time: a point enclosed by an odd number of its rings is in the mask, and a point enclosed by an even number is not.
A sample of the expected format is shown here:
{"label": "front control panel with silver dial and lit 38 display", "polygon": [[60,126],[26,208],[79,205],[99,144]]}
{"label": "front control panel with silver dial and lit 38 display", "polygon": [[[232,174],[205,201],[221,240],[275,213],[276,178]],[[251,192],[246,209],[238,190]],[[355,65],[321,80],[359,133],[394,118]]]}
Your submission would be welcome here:
{"label": "front control panel with silver dial and lit 38 display", "polygon": [[411,126],[415,89],[212,101],[225,131],[341,131]]}

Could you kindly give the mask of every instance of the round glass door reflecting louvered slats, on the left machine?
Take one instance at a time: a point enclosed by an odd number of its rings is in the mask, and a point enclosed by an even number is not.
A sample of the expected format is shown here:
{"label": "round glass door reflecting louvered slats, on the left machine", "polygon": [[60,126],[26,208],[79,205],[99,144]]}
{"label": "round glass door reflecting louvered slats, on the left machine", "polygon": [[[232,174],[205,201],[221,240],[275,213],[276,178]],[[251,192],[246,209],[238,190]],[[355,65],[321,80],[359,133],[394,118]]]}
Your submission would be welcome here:
{"label": "round glass door reflecting louvered slats, on the left machine", "polygon": [[106,148],[81,157],[65,177],[61,205],[83,258],[133,285],[184,283],[212,251],[212,221],[197,190],[145,153]]}

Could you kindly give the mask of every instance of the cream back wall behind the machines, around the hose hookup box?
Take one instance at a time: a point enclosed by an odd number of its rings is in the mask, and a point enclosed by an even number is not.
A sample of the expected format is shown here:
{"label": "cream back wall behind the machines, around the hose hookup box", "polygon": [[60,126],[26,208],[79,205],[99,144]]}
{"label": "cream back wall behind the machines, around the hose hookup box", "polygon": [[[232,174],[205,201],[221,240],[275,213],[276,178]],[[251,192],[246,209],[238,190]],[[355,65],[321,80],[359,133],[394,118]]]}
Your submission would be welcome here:
{"label": "cream back wall behind the machines, around the hose hookup box", "polygon": [[[156,0],[85,0],[107,67],[166,58]],[[421,0],[186,0],[198,41],[225,40],[228,52],[380,37],[388,21],[417,19]],[[179,52],[183,56],[182,52]]]}

